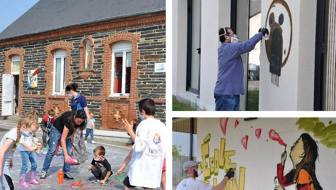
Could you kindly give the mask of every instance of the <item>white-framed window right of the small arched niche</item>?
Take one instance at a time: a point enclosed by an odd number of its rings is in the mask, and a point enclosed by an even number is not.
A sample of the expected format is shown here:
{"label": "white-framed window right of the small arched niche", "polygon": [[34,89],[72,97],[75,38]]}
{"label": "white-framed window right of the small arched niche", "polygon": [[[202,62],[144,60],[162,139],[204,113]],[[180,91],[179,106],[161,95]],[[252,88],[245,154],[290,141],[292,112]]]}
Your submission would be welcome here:
{"label": "white-framed window right of the small arched niche", "polygon": [[112,48],[112,96],[129,94],[131,91],[132,42],[120,42]]}

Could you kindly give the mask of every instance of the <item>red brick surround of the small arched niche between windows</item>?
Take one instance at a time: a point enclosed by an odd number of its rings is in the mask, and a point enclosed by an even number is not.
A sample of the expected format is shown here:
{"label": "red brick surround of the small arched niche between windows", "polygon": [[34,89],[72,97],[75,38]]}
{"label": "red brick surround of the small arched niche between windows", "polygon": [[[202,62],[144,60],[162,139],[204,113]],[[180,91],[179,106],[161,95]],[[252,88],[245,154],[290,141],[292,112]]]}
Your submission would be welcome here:
{"label": "red brick surround of the small arched niche between windows", "polygon": [[[85,68],[85,60],[86,60],[86,45],[84,44],[84,41],[86,39],[90,40],[90,69]],[[93,39],[90,36],[85,36],[82,38],[80,45],[79,45],[79,49],[80,49],[80,53],[79,53],[79,76],[81,76],[84,79],[87,79],[90,76],[93,76],[93,47],[94,47],[94,43],[93,43]]]}

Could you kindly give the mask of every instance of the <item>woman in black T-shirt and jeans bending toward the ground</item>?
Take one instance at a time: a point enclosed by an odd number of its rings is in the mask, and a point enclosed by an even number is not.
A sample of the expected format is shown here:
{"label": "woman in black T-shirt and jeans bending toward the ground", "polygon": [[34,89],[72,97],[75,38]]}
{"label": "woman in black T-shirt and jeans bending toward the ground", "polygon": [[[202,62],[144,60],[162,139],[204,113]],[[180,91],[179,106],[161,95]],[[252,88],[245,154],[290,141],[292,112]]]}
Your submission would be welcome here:
{"label": "woman in black T-shirt and jeans bending toward the ground", "polygon": [[45,180],[45,176],[50,167],[51,160],[56,152],[57,145],[61,141],[64,152],[64,179],[74,181],[75,179],[70,175],[69,159],[71,158],[71,148],[74,142],[74,135],[76,130],[84,130],[86,118],[84,110],[65,112],[57,117],[50,129],[49,150],[45,156],[43,169],[40,180]]}

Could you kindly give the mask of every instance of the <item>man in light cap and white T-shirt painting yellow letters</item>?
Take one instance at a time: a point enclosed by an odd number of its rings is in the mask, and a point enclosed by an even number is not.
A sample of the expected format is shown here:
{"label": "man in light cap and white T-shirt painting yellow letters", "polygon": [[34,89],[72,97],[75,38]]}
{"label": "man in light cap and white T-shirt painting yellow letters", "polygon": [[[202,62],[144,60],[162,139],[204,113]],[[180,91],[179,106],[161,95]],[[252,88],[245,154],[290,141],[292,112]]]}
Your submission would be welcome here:
{"label": "man in light cap and white T-shirt painting yellow letters", "polygon": [[199,163],[200,162],[193,160],[188,160],[183,163],[183,171],[186,172],[187,177],[177,185],[176,190],[224,190],[226,183],[234,176],[234,171],[230,168],[222,182],[217,186],[206,184],[203,181],[196,180],[196,177],[201,175],[201,169],[198,168]]}

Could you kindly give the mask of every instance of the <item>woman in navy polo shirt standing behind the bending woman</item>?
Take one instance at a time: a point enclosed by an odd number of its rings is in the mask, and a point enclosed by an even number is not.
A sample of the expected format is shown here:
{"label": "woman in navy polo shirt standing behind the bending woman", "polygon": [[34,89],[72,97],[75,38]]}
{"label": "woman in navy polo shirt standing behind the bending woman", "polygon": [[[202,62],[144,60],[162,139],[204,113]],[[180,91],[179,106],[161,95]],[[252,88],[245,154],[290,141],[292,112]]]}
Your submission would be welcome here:
{"label": "woman in navy polo shirt standing behind the bending woman", "polygon": [[[84,110],[86,118],[85,121],[88,121],[88,125],[93,127],[90,119],[89,110],[87,109],[86,99],[83,95],[79,94],[77,91],[78,84],[71,83],[66,88],[65,91],[68,93],[68,96],[71,97],[71,110]],[[74,136],[74,157],[78,160],[79,163],[86,162],[89,158],[86,153],[86,147],[83,139],[83,131],[77,130]]]}

